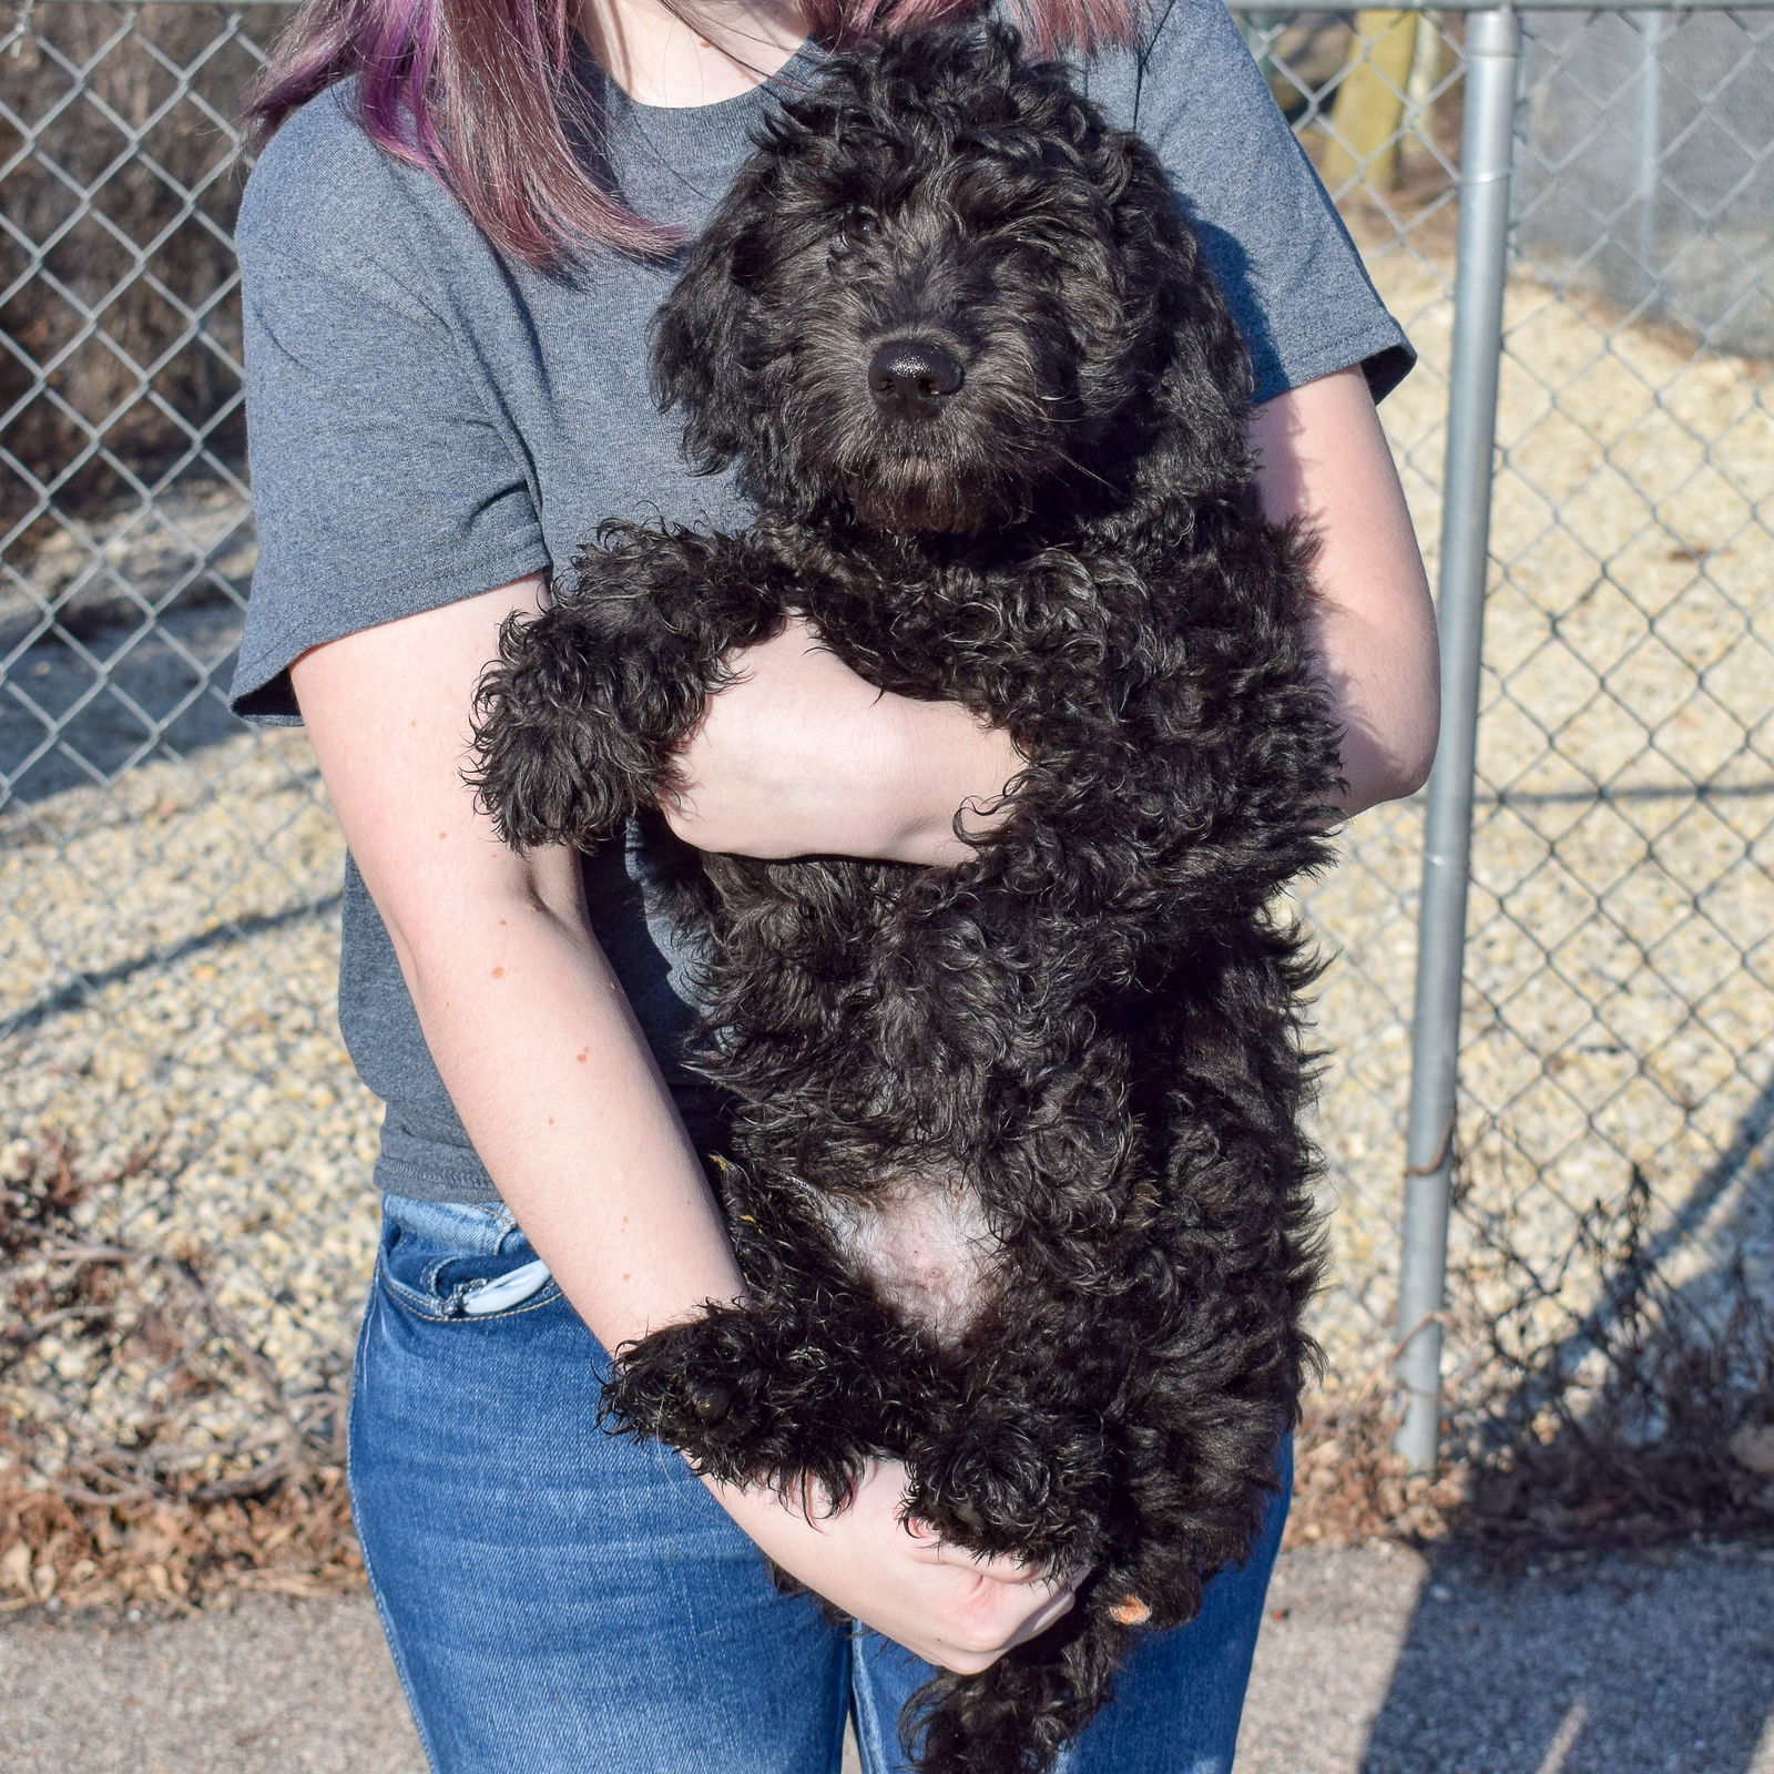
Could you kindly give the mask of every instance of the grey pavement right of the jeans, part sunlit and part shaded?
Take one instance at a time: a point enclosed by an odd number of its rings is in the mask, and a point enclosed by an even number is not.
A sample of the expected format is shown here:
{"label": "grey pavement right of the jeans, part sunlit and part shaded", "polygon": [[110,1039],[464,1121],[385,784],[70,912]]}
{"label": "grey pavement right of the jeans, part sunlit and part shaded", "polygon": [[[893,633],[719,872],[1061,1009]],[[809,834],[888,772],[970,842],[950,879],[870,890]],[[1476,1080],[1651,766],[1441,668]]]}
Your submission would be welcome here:
{"label": "grey pavement right of the jeans, part sunlit and part shaded", "polygon": [[1774,1559],[1300,1549],[1258,1644],[1238,1774],[1774,1774]]}

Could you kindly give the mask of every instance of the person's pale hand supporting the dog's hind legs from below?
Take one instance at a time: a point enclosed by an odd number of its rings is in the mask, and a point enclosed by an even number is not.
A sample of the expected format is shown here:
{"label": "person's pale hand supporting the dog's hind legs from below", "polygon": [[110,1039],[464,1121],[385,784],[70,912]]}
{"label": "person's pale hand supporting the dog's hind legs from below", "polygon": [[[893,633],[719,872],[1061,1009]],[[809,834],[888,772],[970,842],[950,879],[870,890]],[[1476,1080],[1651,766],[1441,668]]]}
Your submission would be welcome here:
{"label": "person's pale hand supporting the dog's hind legs from below", "polygon": [[1073,1602],[1079,1574],[1054,1577],[1013,1559],[944,1545],[901,1520],[905,1467],[871,1464],[836,1515],[804,1511],[770,1490],[708,1487],[745,1533],[809,1590],[958,1675],[990,1669],[1045,1632]]}

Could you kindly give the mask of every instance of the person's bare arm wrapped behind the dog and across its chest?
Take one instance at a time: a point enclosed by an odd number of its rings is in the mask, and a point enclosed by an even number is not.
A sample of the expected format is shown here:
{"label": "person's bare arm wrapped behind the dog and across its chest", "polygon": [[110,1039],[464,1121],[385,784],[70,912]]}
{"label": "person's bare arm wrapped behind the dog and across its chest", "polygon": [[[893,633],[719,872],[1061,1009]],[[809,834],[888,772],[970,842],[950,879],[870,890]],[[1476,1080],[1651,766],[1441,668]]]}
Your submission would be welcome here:
{"label": "person's bare arm wrapped behind the dog and across its chest", "polygon": [[[1258,490],[1277,522],[1318,530],[1318,649],[1345,722],[1343,811],[1414,793],[1435,756],[1435,616],[1391,451],[1359,369],[1251,415]],[[805,626],[736,656],[685,749],[690,789],[665,809],[701,850],[816,852],[951,864],[958,809],[990,807],[1017,773],[1009,736],[953,703],[882,695]],[[976,827],[977,820],[972,821]]]}

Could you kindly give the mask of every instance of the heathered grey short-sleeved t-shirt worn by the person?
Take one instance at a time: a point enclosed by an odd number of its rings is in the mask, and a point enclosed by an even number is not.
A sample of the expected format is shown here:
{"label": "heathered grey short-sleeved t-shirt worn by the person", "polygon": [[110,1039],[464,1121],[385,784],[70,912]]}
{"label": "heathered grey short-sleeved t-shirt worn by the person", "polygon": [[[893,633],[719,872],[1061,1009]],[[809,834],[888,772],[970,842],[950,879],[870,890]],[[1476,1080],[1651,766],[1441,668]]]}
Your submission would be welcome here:
{"label": "heathered grey short-sleeved t-shirt worn by the person", "polygon": [[[818,62],[804,46],[765,87],[660,108],[587,60],[608,176],[640,215],[694,232],[772,90]],[[1221,0],[1171,0],[1139,51],[1107,50],[1080,76],[1169,169],[1251,346],[1258,401],[1357,362],[1377,396],[1405,374],[1410,348]],[[594,254],[548,275],[502,259],[435,179],[364,137],[348,89],[266,145],[238,241],[259,568],[232,697],[248,720],[298,718],[287,669],[309,648],[564,564],[607,516],[743,525],[731,481],[687,472],[681,420],[648,392],[646,323],[671,268]],[[591,924],[710,1141],[718,1102],[678,1061],[683,958],[648,915],[646,873],[635,832],[587,857]],[[349,860],[339,1020],[387,1103],[381,1187],[495,1196]]]}

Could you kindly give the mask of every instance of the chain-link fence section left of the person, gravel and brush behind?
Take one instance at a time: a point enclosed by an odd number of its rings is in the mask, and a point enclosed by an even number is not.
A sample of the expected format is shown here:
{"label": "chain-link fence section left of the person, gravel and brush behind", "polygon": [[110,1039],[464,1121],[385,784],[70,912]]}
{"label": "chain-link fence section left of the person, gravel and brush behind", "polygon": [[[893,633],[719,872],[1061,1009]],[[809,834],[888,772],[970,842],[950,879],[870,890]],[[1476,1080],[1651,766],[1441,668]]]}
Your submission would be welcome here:
{"label": "chain-link fence section left of the person, gravel and brush behind", "polygon": [[232,117],[287,16],[44,0],[0,39],[14,1598],[351,1558],[374,1118],[332,1004],[341,846],[300,734],[224,706],[254,561]]}

